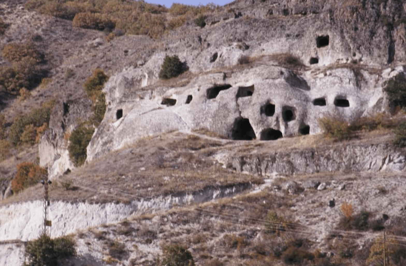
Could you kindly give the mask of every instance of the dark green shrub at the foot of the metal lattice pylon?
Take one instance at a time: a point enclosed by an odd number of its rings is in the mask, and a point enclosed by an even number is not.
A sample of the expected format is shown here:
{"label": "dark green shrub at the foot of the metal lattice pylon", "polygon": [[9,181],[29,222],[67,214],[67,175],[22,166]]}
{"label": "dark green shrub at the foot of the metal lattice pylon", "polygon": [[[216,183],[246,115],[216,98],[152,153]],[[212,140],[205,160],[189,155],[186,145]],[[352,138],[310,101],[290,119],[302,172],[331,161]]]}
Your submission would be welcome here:
{"label": "dark green shrub at the foot of the metal lattice pylon", "polygon": [[26,245],[26,266],[57,266],[58,259],[76,255],[75,241],[63,236],[51,239],[42,234],[35,240],[28,241]]}

